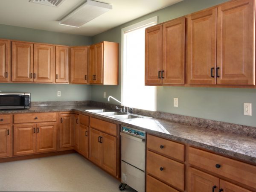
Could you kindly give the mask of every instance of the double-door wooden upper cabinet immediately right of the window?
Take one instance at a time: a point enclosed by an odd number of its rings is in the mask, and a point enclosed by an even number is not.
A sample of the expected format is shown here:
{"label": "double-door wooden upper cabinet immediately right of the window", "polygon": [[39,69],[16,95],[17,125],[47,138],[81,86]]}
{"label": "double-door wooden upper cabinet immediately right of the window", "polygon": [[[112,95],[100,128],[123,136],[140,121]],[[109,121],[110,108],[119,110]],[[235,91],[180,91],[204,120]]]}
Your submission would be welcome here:
{"label": "double-door wooden upper cabinet immediately right of the window", "polygon": [[185,83],[185,25],[181,17],[145,30],[145,84]]}

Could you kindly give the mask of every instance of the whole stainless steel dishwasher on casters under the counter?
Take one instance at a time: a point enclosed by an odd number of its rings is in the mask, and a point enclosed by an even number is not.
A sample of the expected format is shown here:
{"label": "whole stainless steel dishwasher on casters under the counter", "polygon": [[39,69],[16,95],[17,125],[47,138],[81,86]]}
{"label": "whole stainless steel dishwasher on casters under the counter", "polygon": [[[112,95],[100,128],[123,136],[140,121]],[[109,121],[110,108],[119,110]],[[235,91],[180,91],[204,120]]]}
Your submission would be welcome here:
{"label": "whole stainless steel dishwasher on casters under the counter", "polygon": [[145,192],[145,131],[122,126],[121,131],[121,181],[138,192]]}

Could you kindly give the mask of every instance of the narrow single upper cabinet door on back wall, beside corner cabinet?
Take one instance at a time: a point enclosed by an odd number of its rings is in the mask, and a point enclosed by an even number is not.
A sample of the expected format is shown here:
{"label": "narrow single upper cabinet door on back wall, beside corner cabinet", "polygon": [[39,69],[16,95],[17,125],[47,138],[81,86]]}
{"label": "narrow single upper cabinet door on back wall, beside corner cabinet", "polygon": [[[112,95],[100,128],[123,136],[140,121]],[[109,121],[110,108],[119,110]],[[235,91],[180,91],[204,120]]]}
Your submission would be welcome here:
{"label": "narrow single upper cabinet door on back wall, beside corner cabinet", "polygon": [[55,47],[55,82],[68,83],[68,47]]}

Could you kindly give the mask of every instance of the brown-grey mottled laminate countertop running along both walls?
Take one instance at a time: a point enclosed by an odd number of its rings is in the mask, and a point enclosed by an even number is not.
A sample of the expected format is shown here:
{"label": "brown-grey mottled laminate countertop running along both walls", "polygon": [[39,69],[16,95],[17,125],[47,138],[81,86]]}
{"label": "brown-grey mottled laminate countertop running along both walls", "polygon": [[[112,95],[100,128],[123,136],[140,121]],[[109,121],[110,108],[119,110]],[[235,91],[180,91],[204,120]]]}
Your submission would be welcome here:
{"label": "brown-grey mottled laminate countertop running along both walls", "polygon": [[163,119],[140,118],[118,120],[85,111],[87,109],[97,108],[91,106],[45,106],[32,107],[25,110],[1,110],[0,114],[75,111],[256,164],[256,139],[253,137],[224,133],[209,128],[183,125]]}

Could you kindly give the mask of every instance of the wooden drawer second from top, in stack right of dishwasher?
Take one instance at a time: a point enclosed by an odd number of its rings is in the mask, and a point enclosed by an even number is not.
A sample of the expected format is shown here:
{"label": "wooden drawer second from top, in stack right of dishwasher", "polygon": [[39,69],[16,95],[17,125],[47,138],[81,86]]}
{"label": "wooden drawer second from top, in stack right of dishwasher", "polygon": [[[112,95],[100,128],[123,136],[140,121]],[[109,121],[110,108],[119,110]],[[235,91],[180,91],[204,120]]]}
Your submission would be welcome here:
{"label": "wooden drawer second from top, in stack right of dishwasher", "polygon": [[[161,168],[163,170],[161,171]],[[162,155],[147,151],[147,173],[184,191],[185,166]]]}

